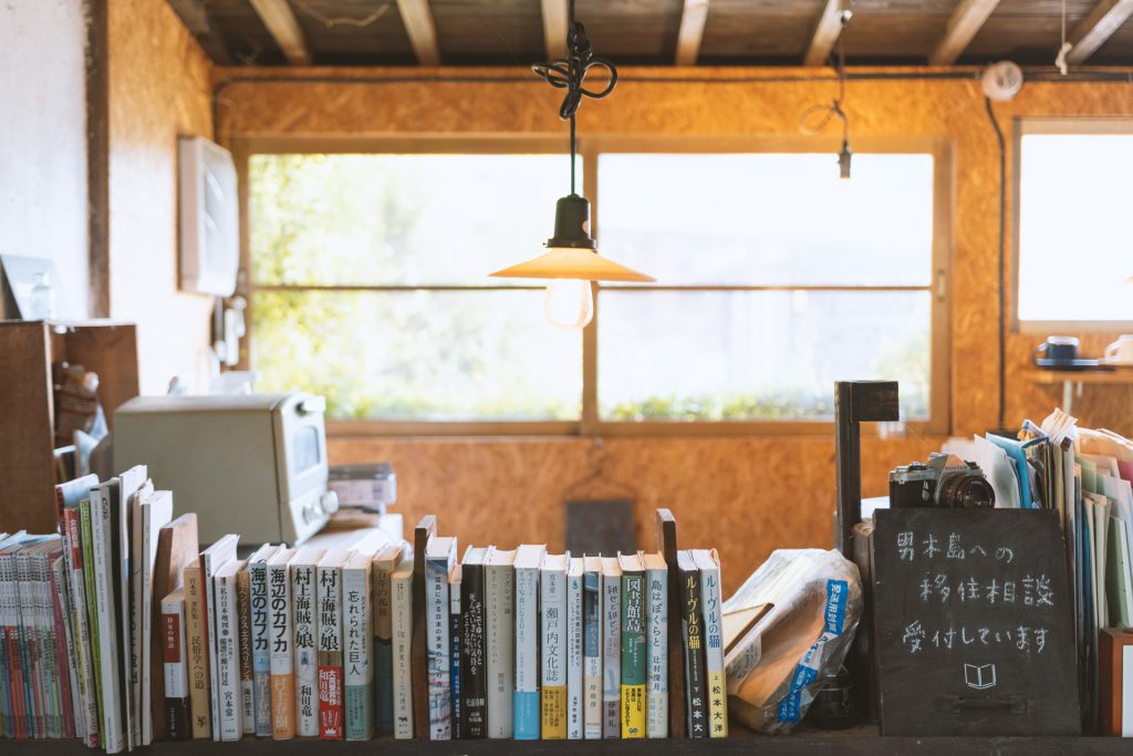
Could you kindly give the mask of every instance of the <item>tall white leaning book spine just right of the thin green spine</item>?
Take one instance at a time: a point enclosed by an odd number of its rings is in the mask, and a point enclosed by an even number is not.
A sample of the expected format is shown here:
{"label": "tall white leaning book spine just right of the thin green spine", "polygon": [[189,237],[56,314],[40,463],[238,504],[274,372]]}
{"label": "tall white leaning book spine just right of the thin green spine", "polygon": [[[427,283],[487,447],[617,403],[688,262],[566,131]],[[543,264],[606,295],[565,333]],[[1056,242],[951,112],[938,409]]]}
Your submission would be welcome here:
{"label": "tall white leaning book spine just right of the thin green spine", "polygon": [[94,592],[99,615],[99,677],[102,678],[102,745],[108,754],[126,747],[122,732],[121,690],[118,685],[118,608],[113,581],[118,576],[110,554],[110,490],[100,489],[91,502],[91,537],[94,540]]}

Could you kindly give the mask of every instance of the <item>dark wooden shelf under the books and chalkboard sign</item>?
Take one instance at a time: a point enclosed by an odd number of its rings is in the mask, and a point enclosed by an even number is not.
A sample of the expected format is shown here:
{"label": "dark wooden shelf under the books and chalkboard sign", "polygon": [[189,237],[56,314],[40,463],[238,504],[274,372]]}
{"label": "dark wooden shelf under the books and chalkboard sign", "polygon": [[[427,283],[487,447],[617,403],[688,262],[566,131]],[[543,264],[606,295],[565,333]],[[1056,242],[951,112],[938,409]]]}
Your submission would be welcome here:
{"label": "dark wooden shelf under the books and chalkboard sign", "polygon": [[[726,740],[455,740],[420,741],[377,738],[351,742],[323,744],[312,739],[271,740],[246,736],[239,742],[214,744],[210,740],[156,742],[147,753],[154,756],[219,756],[224,753],[248,756],[303,756],[306,754],[381,754],[415,756],[419,754],[467,754],[468,756],[621,756],[623,754],[665,756],[666,754],[783,754],[784,756],[837,754],[837,756],[874,756],[876,754],[995,754],[1040,756],[1043,754],[1089,753],[1128,756],[1130,741],[1122,738],[883,738],[876,727],[862,725],[840,732],[803,729],[789,736],[756,734],[732,727]],[[0,740],[5,756],[74,756],[92,751],[78,740],[7,741]]]}

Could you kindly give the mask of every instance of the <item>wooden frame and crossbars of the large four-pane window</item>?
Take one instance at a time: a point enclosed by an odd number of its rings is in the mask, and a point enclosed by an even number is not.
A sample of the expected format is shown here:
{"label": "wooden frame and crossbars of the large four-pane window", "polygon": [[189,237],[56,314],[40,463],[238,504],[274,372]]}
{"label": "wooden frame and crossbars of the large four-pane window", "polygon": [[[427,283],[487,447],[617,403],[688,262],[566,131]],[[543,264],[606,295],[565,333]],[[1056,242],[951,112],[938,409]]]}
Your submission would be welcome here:
{"label": "wooden frame and crossbars of the large four-pane window", "polygon": [[[248,192],[248,161],[254,154],[283,153],[432,153],[432,154],[563,154],[560,138],[526,135],[483,135],[453,137],[450,135],[415,135],[393,137],[233,137],[230,145],[237,165],[240,187],[240,265],[248,272],[248,332],[252,337],[250,309],[255,282],[250,279],[250,195]],[[607,136],[579,137],[579,155],[582,160],[583,192],[593,204],[591,230],[598,236],[598,156],[602,153],[829,153],[833,155],[840,143],[820,137],[701,137],[701,136]],[[783,287],[783,286],[663,286],[630,287],[634,289],[661,289],[680,291],[732,291],[732,290],[930,290],[930,356],[929,356],[929,417],[927,421],[904,423],[910,435],[946,435],[951,430],[951,297],[948,280],[952,267],[953,231],[953,151],[944,137],[855,137],[855,153],[920,153],[932,156],[932,239],[931,269],[934,281],[928,287],[887,286],[833,286],[833,287]],[[519,254],[519,252],[517,252]],[[326,289],[327,287],[272,287],[303,290]],[[330,287],[352,290],[389,290],[406,287]],[[416,287],[415,287],[416,288]],[[428,287],[426,287],[428,288]],[[444,288],[444,287],[441,287]],[[494,289],[542,289],[542,286],[496,287],[449,287],[460,290]],[[582,330],[582,397],[581,417],[578,421],[384,421],[342,419],[327,421],[327,433],[332,436],[828,436],[834,421],[603,421],[598,416],[598,297],[595,284],[595,316]],[[241,365],[247,368],[247,362]],[[830,387],[833,396],[834,387]],[[876,434],[876,427],[866,427],[868,434]]]}

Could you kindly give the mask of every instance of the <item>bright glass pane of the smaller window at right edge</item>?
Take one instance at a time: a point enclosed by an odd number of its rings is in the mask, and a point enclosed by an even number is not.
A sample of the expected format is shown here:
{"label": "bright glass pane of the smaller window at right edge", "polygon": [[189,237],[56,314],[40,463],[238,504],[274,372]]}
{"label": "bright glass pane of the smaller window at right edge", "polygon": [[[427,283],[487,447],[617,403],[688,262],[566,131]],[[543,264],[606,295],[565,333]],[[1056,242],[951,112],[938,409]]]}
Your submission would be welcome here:
{"label": "bright glass pane of the smaller window at right edge", "polygon": [[1020,170],[1020,320],[1133,320],[1133,134],[1029,134]]}

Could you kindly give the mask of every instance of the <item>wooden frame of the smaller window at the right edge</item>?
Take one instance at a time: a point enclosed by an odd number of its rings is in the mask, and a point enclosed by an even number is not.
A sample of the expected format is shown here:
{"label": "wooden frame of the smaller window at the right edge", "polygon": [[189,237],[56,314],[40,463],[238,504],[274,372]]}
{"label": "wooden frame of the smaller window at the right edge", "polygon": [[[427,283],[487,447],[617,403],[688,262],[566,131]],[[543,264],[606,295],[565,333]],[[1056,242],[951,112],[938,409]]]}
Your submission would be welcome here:
{"label": "wooden frame of the smaller window at the right edge", "polygon": [[[1019,316],[1019,273],[1022,249],[1020,232],[1022,220],[1023,189],[1023,137],[1036,134],[1091,135],[1124,134],[1133,136],[1133,118],[1062,116],[1029,117],[1016,116],[1013,124],[1014,164],[1012,177],[1012,250],[1011,250],[1011,330],[1013,333],[1048,335],[1057,332],[1071,333],[1128,333],[1133,331],[1133,320],[1127,321],[1024,321]],[[1133,290],[1133,289],[1131,289]]]}

